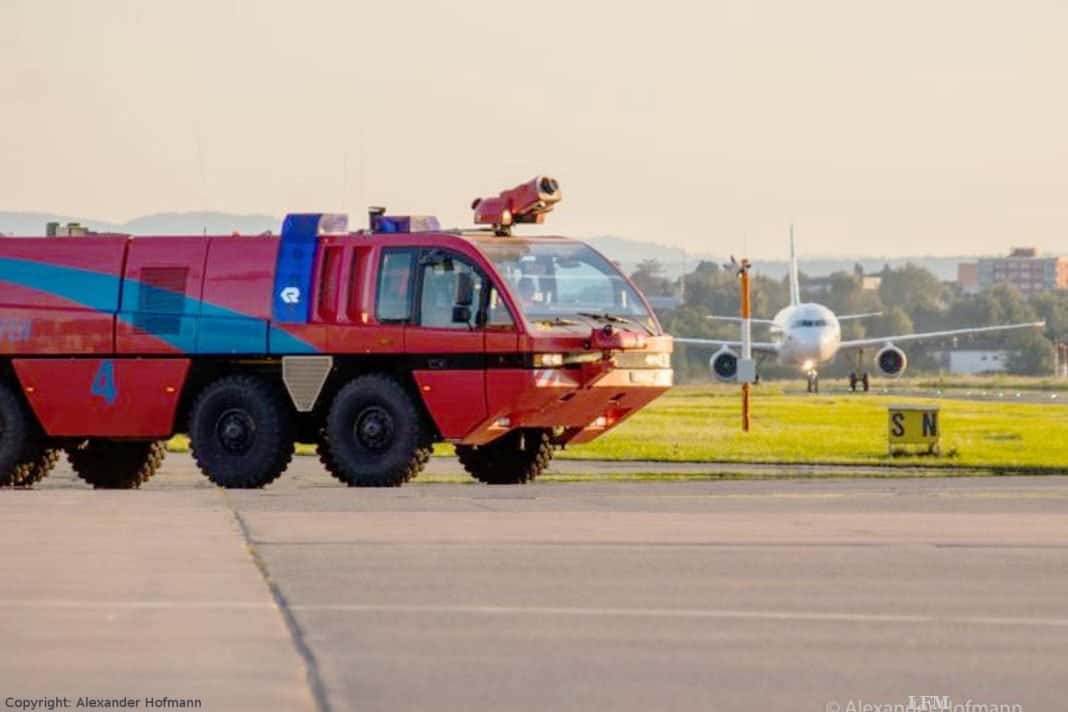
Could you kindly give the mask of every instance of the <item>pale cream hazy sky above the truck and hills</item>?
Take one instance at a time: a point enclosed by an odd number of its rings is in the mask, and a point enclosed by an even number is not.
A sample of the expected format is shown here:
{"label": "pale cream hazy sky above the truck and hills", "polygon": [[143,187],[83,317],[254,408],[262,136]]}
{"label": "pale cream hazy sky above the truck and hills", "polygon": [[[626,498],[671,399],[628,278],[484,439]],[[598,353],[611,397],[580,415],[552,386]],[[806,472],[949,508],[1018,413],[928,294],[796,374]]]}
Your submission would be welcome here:
{"label": "pale cream hazy sky above the truck and hills", "polygon": [[0,210],[370,203],[782,256],[1068,252],[1068,3],[0,0]]}

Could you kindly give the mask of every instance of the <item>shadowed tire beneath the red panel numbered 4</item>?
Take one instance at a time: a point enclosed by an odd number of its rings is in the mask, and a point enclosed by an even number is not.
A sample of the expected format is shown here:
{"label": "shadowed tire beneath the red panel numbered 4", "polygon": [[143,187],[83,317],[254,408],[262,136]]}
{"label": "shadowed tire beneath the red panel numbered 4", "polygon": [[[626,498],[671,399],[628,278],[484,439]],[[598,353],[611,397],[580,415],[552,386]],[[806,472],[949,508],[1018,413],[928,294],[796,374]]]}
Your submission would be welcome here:
{"label": "shadowed tire beneath the red panel numbered 4", "polygon": [[90,440],[67,448],[75,473],[98,490],[132,490],[156,474],[167,455],[162,441]]}

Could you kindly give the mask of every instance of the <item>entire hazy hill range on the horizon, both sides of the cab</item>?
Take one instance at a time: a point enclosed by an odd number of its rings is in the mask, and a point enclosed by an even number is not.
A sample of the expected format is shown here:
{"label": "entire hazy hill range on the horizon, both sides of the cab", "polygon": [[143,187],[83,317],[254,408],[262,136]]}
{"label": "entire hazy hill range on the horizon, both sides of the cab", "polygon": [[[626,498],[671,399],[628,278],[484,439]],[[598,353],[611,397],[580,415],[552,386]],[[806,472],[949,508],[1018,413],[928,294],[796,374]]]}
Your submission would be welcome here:
{"label": "entire hazy hill range on the horizon, both sides of the cab", "polygon": [[[109,233],[129,233],[132,235],[198,235],[201,233],[257,235],[266,231],[278,233],[282,221],[280,218],[266,215],[233,215],[229,212],[160,212],[157,215],[134,218],[124,223],[113,223],[93,218],[56,215],[50,212],[2,212],[0,211],[0,233],[4,235],[44,235],[48,222],[78,222],[90,230]],[[729,255],[690,253],[681,248],[666,247],[642,240],[628,240],[611,235],[601,235],[586,240],[603,252],[610,259],[618,263],[628,273],[632,272],[643,259],[657,259],[664,267],[665,273],[677,278],[684,271],[692,271],[697,263],[707,259],[723,264]],[[826,276],[832,272],[851,271],[853,265],[860,263],[864,271],[874,273],[882,270],[884,265],[899,267],[907,263],[920,265],[934,273],[940,280],[957,279],[957,264],[974,260],[975,257],[814,257],[801,259],[801,270],[810,276]],[[753,271],[766,276],[781,280],[789,268],[785,259],[772,262],[756,262]]]}

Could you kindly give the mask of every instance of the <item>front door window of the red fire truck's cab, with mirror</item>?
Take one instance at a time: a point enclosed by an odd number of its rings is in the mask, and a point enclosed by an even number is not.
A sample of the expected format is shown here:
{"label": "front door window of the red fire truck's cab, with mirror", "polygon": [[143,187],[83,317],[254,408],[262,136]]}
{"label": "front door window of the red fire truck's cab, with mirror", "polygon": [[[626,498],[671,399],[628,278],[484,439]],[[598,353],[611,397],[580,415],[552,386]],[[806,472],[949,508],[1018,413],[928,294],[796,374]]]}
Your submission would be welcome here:
{"label": "front door window of the red fire truck's cab, with mirror", "polygon": [[471,329],[482,304],[482,275],[466,259],[430,251],[420,259],[419,323],[430,329]]}

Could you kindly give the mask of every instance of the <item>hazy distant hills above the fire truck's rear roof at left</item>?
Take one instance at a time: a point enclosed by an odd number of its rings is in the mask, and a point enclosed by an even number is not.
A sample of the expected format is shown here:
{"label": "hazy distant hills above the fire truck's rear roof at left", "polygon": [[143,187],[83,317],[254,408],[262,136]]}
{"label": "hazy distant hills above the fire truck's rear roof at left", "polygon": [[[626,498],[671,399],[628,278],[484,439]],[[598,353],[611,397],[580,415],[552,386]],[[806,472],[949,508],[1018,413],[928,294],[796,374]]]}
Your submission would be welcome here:
{"label": "hazy distant hills above the fire truck's rear roof at left", "polygon": [[0,212],[0,233],[35,236],[45,234],[49,222],[77,222],[98,233],[131,235],[198,235],[201,233],[257,235],[279,232],[282,221],[265,215],[232,215],[229,212],[160,212],[142,216],[128,222],[114,223],[94,218],[56,215],[51,212]]}

